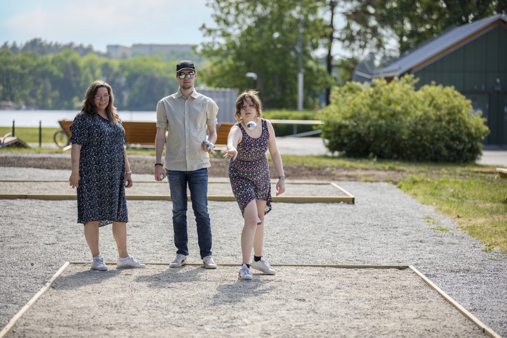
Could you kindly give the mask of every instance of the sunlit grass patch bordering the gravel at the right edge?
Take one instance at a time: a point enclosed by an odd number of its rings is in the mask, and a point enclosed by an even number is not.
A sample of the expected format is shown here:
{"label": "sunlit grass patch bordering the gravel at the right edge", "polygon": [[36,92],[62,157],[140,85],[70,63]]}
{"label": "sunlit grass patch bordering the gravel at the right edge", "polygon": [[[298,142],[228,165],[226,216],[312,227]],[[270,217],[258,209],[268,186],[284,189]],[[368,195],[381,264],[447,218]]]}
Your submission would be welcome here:
{"label": "sunlit grass patch bordering the gravel at the right edge", "polygon": [[[492,169],[494,170],[494,169]],[[417,201],[451,217],[470,236],[507,253],[507,194],[497,175],[473,170],[410,173],[397,186]],[[495,259],[494,255],[490,259]]]}

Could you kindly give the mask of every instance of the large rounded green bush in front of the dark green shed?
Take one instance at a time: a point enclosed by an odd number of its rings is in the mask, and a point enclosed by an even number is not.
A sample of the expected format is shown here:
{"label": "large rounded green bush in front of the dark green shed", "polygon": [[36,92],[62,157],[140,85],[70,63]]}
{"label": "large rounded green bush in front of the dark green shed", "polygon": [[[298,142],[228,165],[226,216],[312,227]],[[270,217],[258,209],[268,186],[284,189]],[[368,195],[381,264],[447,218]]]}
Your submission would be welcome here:
{"label": "large rounded green bush in front of the dark green shed", "polygon": [[470,163],[488,135],[485,119],[453,87],[422,86],[405,76],[374,86],[336,87],[331,104],[317,115],[331,152],[347,157]]}

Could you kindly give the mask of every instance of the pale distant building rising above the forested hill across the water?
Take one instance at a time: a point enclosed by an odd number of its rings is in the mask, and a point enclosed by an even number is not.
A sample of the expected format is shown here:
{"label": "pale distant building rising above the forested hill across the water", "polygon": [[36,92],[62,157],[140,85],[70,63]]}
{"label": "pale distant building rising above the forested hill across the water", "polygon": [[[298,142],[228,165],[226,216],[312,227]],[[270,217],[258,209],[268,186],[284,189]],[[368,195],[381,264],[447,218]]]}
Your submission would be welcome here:
{"label": "pale distant building rising above the forested hill across the water", "polygon": [[153,56],[157,53],[192,53],[193,45],[150,45],[150,44],[134,44],[132,47],[120,45],[107,45],[107,53],[112,58],[128,59],[132,55],[148,55]]}

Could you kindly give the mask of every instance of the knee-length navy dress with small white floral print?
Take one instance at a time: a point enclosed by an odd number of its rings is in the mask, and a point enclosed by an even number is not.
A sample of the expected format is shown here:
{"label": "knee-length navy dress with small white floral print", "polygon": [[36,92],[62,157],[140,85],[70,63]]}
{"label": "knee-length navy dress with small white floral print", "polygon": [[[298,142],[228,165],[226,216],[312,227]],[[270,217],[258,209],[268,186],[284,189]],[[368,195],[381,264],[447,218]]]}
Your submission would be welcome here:
{"label": "knee-length navy dress with small white floral print", "polygon": [[70,131],[69,141],[81,145],[78,223],[98,221],[103,227],[113,221],[128,222],[122,123],[80,113]]}

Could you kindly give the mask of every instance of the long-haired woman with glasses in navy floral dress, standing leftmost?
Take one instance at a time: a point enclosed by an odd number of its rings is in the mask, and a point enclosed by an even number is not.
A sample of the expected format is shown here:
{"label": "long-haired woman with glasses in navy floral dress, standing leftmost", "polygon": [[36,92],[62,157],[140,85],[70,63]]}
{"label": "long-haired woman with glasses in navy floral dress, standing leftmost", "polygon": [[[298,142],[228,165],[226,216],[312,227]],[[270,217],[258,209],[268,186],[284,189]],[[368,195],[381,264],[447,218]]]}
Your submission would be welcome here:
{"label": "long-haired woman with glasses in navy floral dress, standing leftmost", "polygon": [[113,223],[118,268],[144,268],[127,252],[127,201],[132,171],[125,151],[125,130],[114,106],[113,90],[94,81],[86,91],[81,112],[70,125],[72,173],[69,185],[78,192],[78,223],[93,260],[91,269],[107,270],[99,251],[99,227]]}

